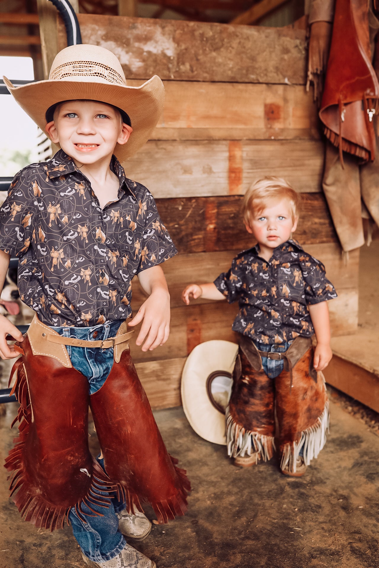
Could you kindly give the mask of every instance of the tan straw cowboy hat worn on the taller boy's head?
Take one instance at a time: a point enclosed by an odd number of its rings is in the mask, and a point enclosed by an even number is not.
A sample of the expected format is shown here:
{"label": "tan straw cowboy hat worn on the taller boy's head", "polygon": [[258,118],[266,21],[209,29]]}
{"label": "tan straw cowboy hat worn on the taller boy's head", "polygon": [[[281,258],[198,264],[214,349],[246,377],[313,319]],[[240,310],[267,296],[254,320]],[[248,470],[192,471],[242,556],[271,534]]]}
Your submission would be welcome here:
{"label": "tan straw cowboy hat worn on the taller boy's head", "polygon": [[108,49],[98,45],[70,45],[62,49],[46,81],[14,87],[3,80],[16,102],[44,131],[46,111],[63,101],[90,99],[120,108],[130,117],[133,132],[126,144],[116,144],[122,162],[145,144],[156,127],[164,103],[164,86],[155,75],[140,87],[127,85],[122,66]]}

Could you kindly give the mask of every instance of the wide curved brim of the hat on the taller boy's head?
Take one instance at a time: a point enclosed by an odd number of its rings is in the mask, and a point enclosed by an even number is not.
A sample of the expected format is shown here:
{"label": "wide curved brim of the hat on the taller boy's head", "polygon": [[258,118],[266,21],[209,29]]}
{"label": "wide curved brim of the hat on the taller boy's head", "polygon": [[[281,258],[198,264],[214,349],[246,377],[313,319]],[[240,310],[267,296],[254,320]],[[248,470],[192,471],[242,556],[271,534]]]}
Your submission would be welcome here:
{"label": "wide curved brim of the hat on the taller boy's head", "polygon": [[139,87],[82,76],[37,81],[20,87],[14,87],[6,77],[3,80],[19,106],[42,131],[46,126],[47,109],[61,101],[88,99],[121,108],[130,116],[133,132],[126,144],[116,144],[114,154],[120,162],[134,156],[145,144],[163,111],[164,86],[157,75]]}

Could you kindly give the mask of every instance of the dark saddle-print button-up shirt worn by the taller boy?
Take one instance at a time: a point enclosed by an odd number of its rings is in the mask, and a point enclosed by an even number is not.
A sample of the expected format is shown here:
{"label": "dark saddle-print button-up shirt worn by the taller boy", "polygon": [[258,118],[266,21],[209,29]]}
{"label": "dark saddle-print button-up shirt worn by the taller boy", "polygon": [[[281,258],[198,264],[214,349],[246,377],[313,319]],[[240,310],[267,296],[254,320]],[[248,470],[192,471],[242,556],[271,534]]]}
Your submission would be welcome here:
{"label": "dark saddle-print button-up shirt worn by the taller boy", "polygon": [[177,253],[140,183],[115,157],[117,201],[101,209],[65,152],[16,174],[0,210],[0,249],[19,258],[23,302],[52,327],[102,324],[131,315],[131,279]]}

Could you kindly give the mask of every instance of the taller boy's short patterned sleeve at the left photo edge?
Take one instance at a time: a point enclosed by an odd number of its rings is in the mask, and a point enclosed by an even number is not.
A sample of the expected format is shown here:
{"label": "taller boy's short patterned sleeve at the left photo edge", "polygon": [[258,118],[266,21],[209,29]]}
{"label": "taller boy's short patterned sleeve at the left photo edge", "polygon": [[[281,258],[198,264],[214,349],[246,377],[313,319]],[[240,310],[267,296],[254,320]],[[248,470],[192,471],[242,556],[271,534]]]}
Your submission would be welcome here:
{"label": "taller boy's short patterned sleeve at the left photo edge", "polygon": [[22,256],[30,246],[35,216],[33,191],[27,170],[21,170],[0,208],[0,249],[11,256]]}

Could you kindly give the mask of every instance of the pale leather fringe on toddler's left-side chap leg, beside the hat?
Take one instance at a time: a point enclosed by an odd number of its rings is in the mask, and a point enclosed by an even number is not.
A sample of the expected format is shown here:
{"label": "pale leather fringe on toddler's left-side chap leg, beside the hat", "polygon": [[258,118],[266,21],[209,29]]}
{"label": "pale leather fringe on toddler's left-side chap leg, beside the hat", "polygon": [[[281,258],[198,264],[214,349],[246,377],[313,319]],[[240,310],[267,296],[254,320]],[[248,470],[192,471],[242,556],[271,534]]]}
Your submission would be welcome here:
{"label": "pale leather fringe on toddler's left-side chap leg, beside the hat", "polygon": [[263,436],[250,430],[245,430],[243,426],[237,424],[229,414],[229,407],[226,409],[226,445],[228,456],[251,456],[257,453],[258,460],[268,461],[272,458],[275,442],[273,436]]}

